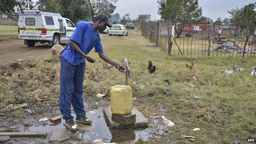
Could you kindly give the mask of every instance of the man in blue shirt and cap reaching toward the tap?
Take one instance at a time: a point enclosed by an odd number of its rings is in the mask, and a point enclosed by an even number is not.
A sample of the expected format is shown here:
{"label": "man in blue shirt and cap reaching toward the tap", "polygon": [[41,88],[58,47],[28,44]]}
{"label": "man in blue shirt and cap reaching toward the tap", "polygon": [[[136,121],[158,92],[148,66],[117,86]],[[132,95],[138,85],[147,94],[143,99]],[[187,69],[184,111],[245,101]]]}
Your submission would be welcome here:
{"label": "man in blue shirt and cap reaching toward the tap", "polygon": [[92,123],[85,116],[83,105],[83,80],[85,74],[85,59],[94,63],[94,59],[87,54],[92,48],[103,59],[125,72],[122,65],[114,62],[103,53],[103,46],[98,30],[105,30],[106,26],[112,27],[109,18],[105,14],[95,17],[94,23],[80,21],[72,34],[68,45],[62,51],[60,69],[60,96],[59,109],[65,119],[64,125],[70,130],[78,130],[71,115],[71,104],[76,114],[75,121],[80,123]]}

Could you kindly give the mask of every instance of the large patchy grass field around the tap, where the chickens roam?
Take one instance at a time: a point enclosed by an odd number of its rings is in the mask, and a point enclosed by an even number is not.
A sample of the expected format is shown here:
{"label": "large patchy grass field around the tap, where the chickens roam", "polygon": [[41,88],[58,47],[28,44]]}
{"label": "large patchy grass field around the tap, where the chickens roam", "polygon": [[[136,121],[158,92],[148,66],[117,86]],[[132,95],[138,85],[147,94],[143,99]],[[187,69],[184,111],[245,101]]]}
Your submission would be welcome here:
{"label": "large patchy grass field around the tap, where the chickens roam", "polygon": [[[256,137],[256,78],[250,75],[251,67],[256,66],[253,57],[167,55],[160,48],[143,46],[154,43],[145,39],[139,30],[130,30],[127,37],[103,35],[102,43],[109,57],[119,63],[123,58],[130,62],[129,85],[133,89],[133,97],[137,98],[133,105],[147,118],[149,115],[162,115],[159,111],[162,105],[168,109],[164,116],[175,123],[167,128],[169,134],[146,143],[192,143],[181,135],[196,136],[197,141],[193,142],[196,144],[246,143],[247,138]],[[109,96],[110,87],[125,84],[124,73],[115,68],[106,69],[105,62],[94,51],[89,55],[96,62],[86,63],[85,100],[95,100],[97,93]],[[153,77],[146,68],[148,60],[157,68]],[[186,69],[185,64],[194,60],[194,69]],[[233,75],[227,76],[224,70],[234,69],[234,65],[245,71],[234,71]],[[19,98],[31,104],[36,98],[43,97],[46,101],[37,103],[37,107],[46,104],[56,106],[59,68],[59,62],[53,62],[50,57],[0,67],[1,73],[11,72],[9,77],[0,76],[0,107],[13,104]],[[39,73],[40,79],[35,79],[33,73]],[[193,82],[194,88],[189,87],[192,76],[197,78]],[[166,79],[172,84],[165,83]],[[140,85],[144,85],[144,89],[139,89]],[[201,98],[195,99],[194,96]],[[193,131],[194,128],[201,130]]]}

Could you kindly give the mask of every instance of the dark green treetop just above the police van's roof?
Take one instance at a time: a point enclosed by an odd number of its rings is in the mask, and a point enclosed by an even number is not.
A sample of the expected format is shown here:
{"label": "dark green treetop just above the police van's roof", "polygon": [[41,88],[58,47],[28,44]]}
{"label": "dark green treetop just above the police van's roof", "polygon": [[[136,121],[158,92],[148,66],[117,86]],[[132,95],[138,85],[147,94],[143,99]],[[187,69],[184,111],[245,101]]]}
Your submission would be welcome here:
{"label": "dark green treetop just above the police van's roof", "polygon": [[47,11],[52,13],[60,12],[60,6],[57,0],[41,0],[38,9],[39,11]]}

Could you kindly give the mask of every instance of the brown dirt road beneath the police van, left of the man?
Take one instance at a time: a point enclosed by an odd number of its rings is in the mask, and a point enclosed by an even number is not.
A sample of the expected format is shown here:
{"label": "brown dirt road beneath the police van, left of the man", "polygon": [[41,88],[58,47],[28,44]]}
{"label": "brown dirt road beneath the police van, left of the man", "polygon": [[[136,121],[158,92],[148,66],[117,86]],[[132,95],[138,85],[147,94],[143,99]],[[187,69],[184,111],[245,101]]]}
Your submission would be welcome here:
{"label": "brown dirt road beneath the police van, left of the man", "polygon": [[[67,41],[61,45],[65,47]],[[12,40],[0,42],[0,65],[15,62],[15,59],[34,59],[37,57],[50,56],[48,43],[36,43],[34,47],[24,45],[24,40]]]}

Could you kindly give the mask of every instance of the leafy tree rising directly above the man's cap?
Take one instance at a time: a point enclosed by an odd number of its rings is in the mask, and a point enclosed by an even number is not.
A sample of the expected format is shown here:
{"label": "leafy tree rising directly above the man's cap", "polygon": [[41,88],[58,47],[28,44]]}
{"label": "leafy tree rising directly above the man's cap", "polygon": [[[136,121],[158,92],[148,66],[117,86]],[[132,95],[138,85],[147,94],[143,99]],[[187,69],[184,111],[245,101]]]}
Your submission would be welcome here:
{"label": "leafy tree rising directly above the man's cap", "polygon": [[106,14],[111,18],[111,14],[116,9],[118,0],[88,0],[91,21],[94,21],[94,16],[98,14]]}

